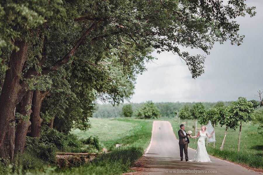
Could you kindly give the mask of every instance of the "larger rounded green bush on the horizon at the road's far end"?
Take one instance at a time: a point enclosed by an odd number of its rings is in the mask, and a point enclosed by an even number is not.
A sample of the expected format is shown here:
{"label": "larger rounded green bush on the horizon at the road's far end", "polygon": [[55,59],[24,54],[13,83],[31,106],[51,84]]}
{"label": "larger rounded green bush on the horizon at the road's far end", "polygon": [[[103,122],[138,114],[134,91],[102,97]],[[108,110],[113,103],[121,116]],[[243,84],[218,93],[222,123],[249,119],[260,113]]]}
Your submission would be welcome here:
{"label": "larger rounded green bush on the horizon at the road's far end", "polygon": [[146,101],[141,108],[135,111],[135,115],[138,118],[158,118],[160,111],[152,101]]}

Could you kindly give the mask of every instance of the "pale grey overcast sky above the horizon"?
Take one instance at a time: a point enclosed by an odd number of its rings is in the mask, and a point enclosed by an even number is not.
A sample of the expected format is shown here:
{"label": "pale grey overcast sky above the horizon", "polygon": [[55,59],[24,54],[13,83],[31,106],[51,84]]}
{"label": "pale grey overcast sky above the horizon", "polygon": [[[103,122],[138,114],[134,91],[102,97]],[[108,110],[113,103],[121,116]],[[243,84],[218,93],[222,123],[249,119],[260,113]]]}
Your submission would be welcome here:
{"label": "pale grey overcast sky above the horizon", "polygon": [[[234,101],[238,97],[256,99],[263,89],[263,1],[248,0],[256,6],[256,16],[239,17],[242,45],[216,43],[206,55],[205,73],[193,79],[185,62],[173,53],[153,53],[156,63],[146,64],[148,70],[138,75],[131,102],[216,102]],[[201,50],[186,49],[191,55]],[[183,51],[183,50],[182,50]]]}

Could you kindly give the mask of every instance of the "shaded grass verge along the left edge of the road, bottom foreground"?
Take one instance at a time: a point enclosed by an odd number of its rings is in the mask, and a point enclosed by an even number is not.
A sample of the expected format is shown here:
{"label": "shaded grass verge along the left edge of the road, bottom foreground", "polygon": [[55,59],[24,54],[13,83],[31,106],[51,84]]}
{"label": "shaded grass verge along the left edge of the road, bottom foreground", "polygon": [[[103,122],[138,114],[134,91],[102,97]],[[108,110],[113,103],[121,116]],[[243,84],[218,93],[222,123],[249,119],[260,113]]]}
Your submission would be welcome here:
{"label": "shaded grass verge along the left edge of the road, bottom foreground", "polygon": [[[101,175],[122,174],[129,170],[133,162],[143,154],[137,147],[123,147],[114,149],[110,153],[104,153],[87,162],[81,167],[56,170],[53,167],[46,167],[44,171],[27,171],[27,175]],[[7,174],[8,175],[8,174]]]}

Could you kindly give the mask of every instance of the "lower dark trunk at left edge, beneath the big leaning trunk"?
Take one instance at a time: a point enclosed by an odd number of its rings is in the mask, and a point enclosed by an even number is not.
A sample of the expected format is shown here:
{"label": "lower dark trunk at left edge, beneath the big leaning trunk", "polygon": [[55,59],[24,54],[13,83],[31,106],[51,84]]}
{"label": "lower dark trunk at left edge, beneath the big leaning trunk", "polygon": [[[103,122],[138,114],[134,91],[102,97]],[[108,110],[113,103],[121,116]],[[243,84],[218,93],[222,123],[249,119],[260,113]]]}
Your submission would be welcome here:
{"label": "lower dark trunk at left edge, beneath the big leaning trunk", "polygon": [[[15,110],[14,110],[15,114]],[[12,161],[14,157],[14,144],[15,144],[15,121],[10,122],[6,135],[4,137],[4,142],[0,146],[0,157],[9,157]]]}

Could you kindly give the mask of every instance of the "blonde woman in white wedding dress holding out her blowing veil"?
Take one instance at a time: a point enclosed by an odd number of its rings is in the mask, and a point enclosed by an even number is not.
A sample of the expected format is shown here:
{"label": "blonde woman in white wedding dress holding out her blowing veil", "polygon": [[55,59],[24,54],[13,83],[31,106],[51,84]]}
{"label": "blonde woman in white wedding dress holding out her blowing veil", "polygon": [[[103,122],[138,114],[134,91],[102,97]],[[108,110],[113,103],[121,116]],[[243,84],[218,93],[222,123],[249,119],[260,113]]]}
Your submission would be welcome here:
{"label": "blonde woman in white wedding dress holding out her blowing veil", "polygon": [[[215,141],[214,128],[211,125],[211,121],[209,120],[207,125],[203,125],[201,130],[198,131],[196,136],[191,136],[191,138],[196,138],[199,136],[197,141],[197,148],[192,160],[190,162],[211,162],[209,155],[205,148],[205,138],[207,138],[208,143]],[[212,138],[211,138],[212,137]]]}

